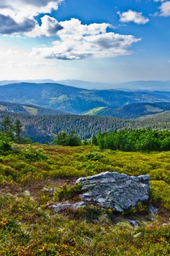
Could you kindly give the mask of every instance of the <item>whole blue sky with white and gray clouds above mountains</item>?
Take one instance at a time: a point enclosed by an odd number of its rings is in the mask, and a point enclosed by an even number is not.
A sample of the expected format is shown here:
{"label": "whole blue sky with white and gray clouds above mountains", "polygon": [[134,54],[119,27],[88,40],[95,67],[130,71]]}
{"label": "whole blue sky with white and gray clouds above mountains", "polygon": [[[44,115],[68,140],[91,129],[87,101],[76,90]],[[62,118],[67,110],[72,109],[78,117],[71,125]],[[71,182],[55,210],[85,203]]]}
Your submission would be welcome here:
{"label": "whole blue sky with white and gray clouds above mountains", "polygon": [[0,79],[170,80],[170,1],[0,0]]}

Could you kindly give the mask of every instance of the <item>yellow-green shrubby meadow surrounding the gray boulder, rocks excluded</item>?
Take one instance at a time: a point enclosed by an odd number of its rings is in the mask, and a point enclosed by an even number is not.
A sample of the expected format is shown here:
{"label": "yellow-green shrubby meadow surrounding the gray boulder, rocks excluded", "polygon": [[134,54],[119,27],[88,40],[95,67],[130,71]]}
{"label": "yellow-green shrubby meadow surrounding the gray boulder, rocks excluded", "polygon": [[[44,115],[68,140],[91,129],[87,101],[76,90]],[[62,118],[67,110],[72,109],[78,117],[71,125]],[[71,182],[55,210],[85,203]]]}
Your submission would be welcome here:
{"label": "yellow-green shrubby meadow surrounding the gray boulder, rocks excluded", "polygon": [[[150,201],[124,214],[95,205],[58,214],[49,209],[79,201],[76,179],[103,171],[150,174]],[[0,255],[170,255],[169,172],[170,152],[38,144],[1,151]],[[151,204],[158,208],[155,220],[148,212]]]}

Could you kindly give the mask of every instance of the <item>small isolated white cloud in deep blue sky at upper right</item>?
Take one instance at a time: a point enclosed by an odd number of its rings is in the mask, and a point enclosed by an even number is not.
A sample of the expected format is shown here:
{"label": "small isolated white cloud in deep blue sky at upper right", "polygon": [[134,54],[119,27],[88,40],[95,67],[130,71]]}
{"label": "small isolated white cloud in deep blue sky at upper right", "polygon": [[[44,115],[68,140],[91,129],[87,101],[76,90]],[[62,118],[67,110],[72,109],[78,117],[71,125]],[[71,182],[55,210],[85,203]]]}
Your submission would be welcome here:
{"label": "small isolated white cloud in deep blue sky at upper right", "polygon": [[118,11],[118,15],[120,15],[120,22],[134,22],[136,24],[146,24],[149,22],[148,18],[142,15],[142,12],[129,10],[121,13]]}

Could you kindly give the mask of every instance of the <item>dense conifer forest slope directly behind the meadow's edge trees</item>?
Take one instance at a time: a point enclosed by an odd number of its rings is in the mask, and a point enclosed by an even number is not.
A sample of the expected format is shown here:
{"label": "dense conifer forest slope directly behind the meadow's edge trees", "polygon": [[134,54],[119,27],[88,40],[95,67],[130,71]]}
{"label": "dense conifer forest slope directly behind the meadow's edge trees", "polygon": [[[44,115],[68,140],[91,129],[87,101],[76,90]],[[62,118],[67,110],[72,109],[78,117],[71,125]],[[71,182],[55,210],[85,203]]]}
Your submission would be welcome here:
{"label": "dense conifer forest slope directly behind the meadow's edge trees", "polygon": [[25,136],[33,141],[45,143],[52,141],[60,131],[70,133],[74,130],[81,139],[97,135],[99,131],[114,129],[167,129],[170,128],[170,112],[145,117],[137,120],[116,119],[112,117],[82,116],[82,115],[25,115],[15,113],[0,113],[0,121],[9,115],[11,119],[19,118],[25,129]]}

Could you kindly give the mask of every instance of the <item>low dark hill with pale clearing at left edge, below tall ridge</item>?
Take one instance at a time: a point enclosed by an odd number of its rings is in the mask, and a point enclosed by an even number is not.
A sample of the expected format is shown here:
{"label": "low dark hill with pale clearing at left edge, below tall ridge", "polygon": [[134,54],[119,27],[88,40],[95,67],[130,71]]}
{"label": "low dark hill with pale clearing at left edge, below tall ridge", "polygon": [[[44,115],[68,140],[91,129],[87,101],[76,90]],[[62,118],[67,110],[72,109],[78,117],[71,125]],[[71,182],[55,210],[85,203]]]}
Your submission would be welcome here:
{"label": "low dark hill with pale clearing at left edge, below tall ridge", "polygon": [[2,102],[0,101],[0,112],[12,112],[12,113],[22,113],[30,115],[60,115],[65,114],[62,110],[43,108],[41,106],[36,106],[32,104],[19,104],[13,102]]}

